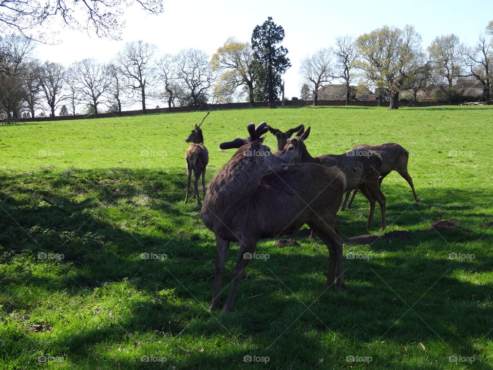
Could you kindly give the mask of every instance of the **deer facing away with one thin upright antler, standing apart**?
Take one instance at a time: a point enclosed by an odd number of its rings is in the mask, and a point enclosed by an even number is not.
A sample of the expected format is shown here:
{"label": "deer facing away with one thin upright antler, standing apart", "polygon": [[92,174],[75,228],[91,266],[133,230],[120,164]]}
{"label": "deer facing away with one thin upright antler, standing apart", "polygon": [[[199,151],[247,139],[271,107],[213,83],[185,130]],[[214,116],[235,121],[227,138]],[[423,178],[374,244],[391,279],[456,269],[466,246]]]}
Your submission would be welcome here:
{"label": "deer facing away with one thin upright antler, standing apart", "polygon": [[[207,112],[205,117],[209,115],[210,112]],[[192,143],[188,146],[188,149],[185,151],[185,161],[186,161],[186,175],[187,175],[187,184],[186,184],[186,195],[185,195],[185,204],[188,201],[188,191],[190,189],[190,179],[192,177],[192,171],[194,171],[194,197],[197,198],[197,204],[200,206],[200,196],[199,196],[199,179],[202,175],[202,189],[205,196],[205,168],[207,167],[207,163],[209,162],[209,153],[207,152],[207,148],[204,145],[204,136],[202,135],[202,130],[200,126],[205,120],[205,117],[202,119],[202,122],[197,126],[195,124],[194,130],[192,133],[188,135],[185,139],[185,142]]]}

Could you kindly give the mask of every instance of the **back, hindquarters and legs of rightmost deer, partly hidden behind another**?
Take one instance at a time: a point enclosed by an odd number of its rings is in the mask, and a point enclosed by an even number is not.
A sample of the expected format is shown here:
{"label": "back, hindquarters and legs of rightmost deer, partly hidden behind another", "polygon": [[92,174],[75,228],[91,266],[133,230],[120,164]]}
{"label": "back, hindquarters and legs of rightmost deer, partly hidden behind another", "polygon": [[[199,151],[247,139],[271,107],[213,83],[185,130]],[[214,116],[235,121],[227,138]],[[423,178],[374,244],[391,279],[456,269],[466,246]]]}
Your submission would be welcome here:
{"label": "back, hindquarters and legs of rightmost deer, partly hidden behind another", "polygon": [[[401,145],[397,143],[384,143],[377,145],[358,144],[353,147],[353,150],[356,149],[366,149],[380,154],[380,156],[382,157],[382,167],[380,169],[380,178],[378,179],[380,185],[382,185],[382,180],[385,178],[385,176],[387,176],[392,171],[397,171],[409,183],[412,194],[414,196],[414,202],[418,203],[420,201],[418,195],[416,195],[416,191],[414,190],[412,178],[407,172],[407,161],[409,159],[409,152],[406,149],[404,149]],[[351,196],[347,207],[346,203],[351,192],[346,192],[346,198],[344,199],[343,205],[340,208],[341,211],[344,211],[346,208],[351,208],[357,192],[358,189],[353,190],[353,195]]]}

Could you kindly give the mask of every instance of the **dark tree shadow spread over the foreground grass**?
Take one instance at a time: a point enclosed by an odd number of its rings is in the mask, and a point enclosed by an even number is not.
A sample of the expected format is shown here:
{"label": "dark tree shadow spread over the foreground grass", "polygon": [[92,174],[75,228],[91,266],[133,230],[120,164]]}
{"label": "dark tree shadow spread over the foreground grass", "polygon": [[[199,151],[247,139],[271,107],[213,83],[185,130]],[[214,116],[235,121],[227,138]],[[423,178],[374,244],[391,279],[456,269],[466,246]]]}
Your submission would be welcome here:
{"label": "dark tree shadow spread over the foreground grass", "polygon": [[[120,302],[113,308],[115,315],[106,315],[101,322],[89,321],[80,327],[68,324],[64,330],[63,315],[69,314],[64,312],[60,319],[47,318],[53,322],[54,334],[14,332],[11,339],[17,340],[2,349],[9,357],[20,356],[29,348],[33,353],[63,354],[73,368],[97,364],[143,369],[163,365],[313,368],[320,359],[337,368],[352,365],[347,356],[370,356],[377,367],[389,368],[387,346],[396,356],[396,350],[420,348],[419,343],[439,349],[414,354],[416,359],[429,361],[431,357],[444,362],[444,367],[447,356],[489,356],[484,341],[493,339],[493,315],[487,304],[491,284],[487,273],[493,261],[486,246],[459,249],[464,242],[480,237],[477,231],[452,232],[448,244],[437,233],[415,231],[407,241],[363,246],[359,251],[370,250],[372,258],[345,258],[347,288],[336,293],[324,286],[328,267],[325,246],[300,240],[299,248],[304,248],[300,252],[296,247],[274,248],[274,241],[262,242],[257,252],[269,253],[269,260],[250,264],[239,286],[235,310],[219,315],[207,312],[214,238],[196,225],[199,208],[181,205],[184,192],[176,174],[72,171],[64,176],[3,175],[1,182],[0,220],[5,232],[0,235],[0,245],[5,252],[14,253],[4,256],[4,263],[29,270],[29,264],[17,260],[28,256],[31,264],[69,266],[66,274],[47,276],[23,275],[18,269],[8,275],[2,270],[0,291],[11,297],[14,306],[10,312],[29,314],[30,305],[37,304],[25,305],[25,299],[16,293],[22,287],[44,289],[46,295],[80,296],[84,301],[81,315],[93,300],[96,306],[104,306],[106,296]],[[387,194],[390,217],[397,214],[393,207],[397,211],[406,207],[405,202],[397,202],[405,193],[403,189],[393,187]],[[438,216],[435,212],[449,218],[460,211],[473,215],[475,222],[485,216],[485,212],[467,208],[468,199],[489,199],[491,195],[451,190],[454,199],[444,199],[442,189],[419,192],[423,197],[419,212],[431,219]],[[435,210],[438,202],[441,206]],[[404,218],[400,226],[423,223],[423,218],[413,217]],[[346,227],[352,223],[348,220]],[[483,238],[491,244],[490,233]],[[448,258],[447,252],[455,249],[474,253],[476,259]],[[63,253],[66,258],[60,262],[36,260],[40,251]],[[142,259],[141,253],[166,254],[166,258]],[[237,253],[233,246],[224,274],[224,296],[229,292],[227,284]],[[121,286],[131,292],[120,299]],[[104,289],[106,295],[101,298],[98,289]],[[157,349],[118,356],[121,346],[137,348],[159,340],[163,345]],[[137,344],[132,344],[134,341]],[[230,346],[230,341],[238,345]],[[203,351],[202,345],[206,347]],[[142,354],[166,357],[167,361],[142,362]],[[249,363],[243,361],[245,356],[270,360]],[[33,357],[32,367],[36,364]],[[480,361],[477,365],[489,368]]]}

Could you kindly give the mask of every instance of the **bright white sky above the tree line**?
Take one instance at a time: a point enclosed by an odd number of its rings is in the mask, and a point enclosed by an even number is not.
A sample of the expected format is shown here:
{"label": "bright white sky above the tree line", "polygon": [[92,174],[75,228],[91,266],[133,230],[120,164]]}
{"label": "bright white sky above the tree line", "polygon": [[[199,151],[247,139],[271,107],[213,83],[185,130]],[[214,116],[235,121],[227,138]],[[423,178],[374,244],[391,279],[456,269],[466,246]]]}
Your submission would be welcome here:
{"label": "bright white sky above the tree line", "polygon": [[[329,47],[336,36],[358,36],[384,25],[415,26],[426,48],[436,36],[455,33],[462,42],[476,43],[486,24],[493,20],[493,1],[476,0],[309,0],[245,2],[197,0],[165,2],[165,12],[148,15],[137,7],[127,9],[122,41],[89,37],[83,32],[63,31],[60,45],[39,45],[36,56],[69,65],[76,60],[95,58],[106,63],[125,42],[144,40],[157,45],[160,54],[182,48],[198,48],[213,54],[227,38],[250,41],[256,25],[272,16],[286,33],[292,67],[286,72],[286,96],[299,96],[300,60],[321,47]],[[159,55],[158,55],[159,57]],[[163,103],[159,103],[163,106]],[[151,104],[148,105],[152,107]]]}

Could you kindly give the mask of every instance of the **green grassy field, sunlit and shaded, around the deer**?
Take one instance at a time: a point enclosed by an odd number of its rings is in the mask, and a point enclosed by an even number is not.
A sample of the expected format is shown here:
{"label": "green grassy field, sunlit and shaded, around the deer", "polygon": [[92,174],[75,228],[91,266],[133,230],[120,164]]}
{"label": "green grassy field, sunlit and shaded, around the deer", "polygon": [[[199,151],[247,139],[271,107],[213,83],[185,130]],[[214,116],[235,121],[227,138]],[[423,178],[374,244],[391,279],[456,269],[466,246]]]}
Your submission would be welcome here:
{"label": "green grassy field, sunlit and shaded, around the deer", "polygon": [[[346,245],[343,291],[325,287],[317,238],[262,241],[269,258],[249,265],[224,314],[207,310],[214,235],[183,202],[184,139],[203,116],[0,126],[0,368],[493,368],[493,107],[211,113],[206,181],[233,154],[218,144],[247,123],[304,123],[314,156],[400,143],[421,199],[387,176],[388,227],[376,231],[377,207],[370,232],[412,236]],[[339,212],[342,234],[368,233],[367,212],[359,194]],[[470,231],[425,230],[445,218]]]}

